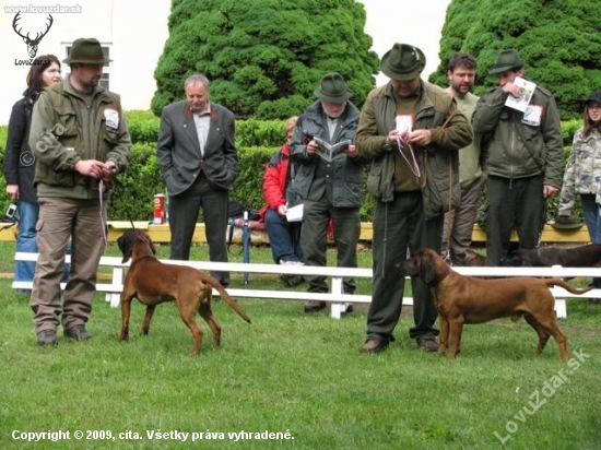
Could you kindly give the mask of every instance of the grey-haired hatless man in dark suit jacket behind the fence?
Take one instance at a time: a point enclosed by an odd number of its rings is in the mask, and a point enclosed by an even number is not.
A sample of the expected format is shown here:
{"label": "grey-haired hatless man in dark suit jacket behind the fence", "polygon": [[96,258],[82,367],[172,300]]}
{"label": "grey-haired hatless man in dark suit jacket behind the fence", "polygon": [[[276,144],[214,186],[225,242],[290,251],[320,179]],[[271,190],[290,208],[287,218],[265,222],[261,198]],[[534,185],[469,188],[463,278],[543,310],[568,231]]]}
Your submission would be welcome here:
{"label": "grey-haired hatless man in dark suit jacket behind the fence", "polygon": [[[238,157],[234,114],[209,100],[209,80],[190,75],[184,84],[186,100],[163,108],[157,157],[168,193],[174,260],[190,258],[190,244],[202,206],[209,257],[227,262],[225,236],[229,190],[237,176]],[[229,284],[227,272],[212,272]]]}

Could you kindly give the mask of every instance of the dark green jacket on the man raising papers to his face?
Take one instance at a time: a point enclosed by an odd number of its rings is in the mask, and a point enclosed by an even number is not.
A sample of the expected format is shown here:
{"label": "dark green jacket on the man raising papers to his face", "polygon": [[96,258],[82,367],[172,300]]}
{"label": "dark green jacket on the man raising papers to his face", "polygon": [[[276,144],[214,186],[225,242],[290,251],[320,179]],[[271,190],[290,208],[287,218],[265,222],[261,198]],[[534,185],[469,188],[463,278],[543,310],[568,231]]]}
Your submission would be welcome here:
{"label": "dark green jacket on the man raising papers to his face", "polygon": [[525,112],[505,106],[508,93],[493,87],[478,102],[472,126],[485,145],[484,171],[503,178],[544,174],[544,183],[562,186],[564,147],[559,112],[551,93],[537,86],[525,122]]}

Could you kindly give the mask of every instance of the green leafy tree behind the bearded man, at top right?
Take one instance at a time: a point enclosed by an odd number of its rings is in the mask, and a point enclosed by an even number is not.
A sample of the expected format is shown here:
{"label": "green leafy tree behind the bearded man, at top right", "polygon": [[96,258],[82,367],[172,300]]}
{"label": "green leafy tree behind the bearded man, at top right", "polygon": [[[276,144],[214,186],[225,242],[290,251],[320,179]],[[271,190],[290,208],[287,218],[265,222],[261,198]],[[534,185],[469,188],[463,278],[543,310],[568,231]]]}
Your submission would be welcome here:
{"label": "green leafy tree behind the bearded man, at top right", "polygon": [[526,76],[555,96],[562,119],[579,115],[581,102],[601,88],[601,1],[451,0],[440,39],[440,66],[431,81],[447,85],[456,51],[478,60],[474,92],[497,85],[488,69],[498,51],[516,48]]}

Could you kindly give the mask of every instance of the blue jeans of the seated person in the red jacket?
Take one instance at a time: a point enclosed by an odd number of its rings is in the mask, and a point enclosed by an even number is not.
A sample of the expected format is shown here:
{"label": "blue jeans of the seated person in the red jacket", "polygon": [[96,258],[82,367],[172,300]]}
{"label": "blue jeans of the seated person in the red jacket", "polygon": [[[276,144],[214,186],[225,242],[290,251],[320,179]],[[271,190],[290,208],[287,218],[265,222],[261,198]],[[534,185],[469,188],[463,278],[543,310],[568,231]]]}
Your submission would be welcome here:
{"label": "blue jeans of the seated person in the red jacket", "polygon": [[303,262],[300,250],[300,222],[288,224],[285,217],[268,208],[264,215],[271,253],[276,264],[280,261]]}

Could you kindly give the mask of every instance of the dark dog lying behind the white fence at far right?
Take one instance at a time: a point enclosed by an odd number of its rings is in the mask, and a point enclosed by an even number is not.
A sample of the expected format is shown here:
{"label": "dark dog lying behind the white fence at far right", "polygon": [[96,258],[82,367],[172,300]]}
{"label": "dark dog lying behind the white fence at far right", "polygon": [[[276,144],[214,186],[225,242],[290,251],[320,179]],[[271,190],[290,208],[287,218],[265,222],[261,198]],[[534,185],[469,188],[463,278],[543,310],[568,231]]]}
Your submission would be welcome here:
{"label": "dark dog lying behind the white fence at far right", "polygon": [[500,265],[521,268],[599,268],[601,267],[601,244],[574,248],[541,247],[533,250],[517,249],[505,258]]}

